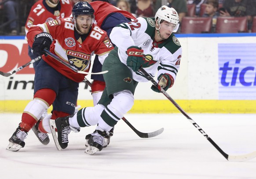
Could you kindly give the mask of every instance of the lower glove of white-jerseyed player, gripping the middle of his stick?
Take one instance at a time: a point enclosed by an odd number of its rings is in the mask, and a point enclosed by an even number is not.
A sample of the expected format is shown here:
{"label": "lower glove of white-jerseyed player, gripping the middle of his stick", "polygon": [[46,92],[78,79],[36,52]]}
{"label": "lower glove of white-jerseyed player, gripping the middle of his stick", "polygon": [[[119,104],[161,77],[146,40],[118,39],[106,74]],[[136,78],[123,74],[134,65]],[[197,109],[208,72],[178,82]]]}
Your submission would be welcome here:
{"label": "lower glove of white-jerseyed player, gripping the middle of his stick", "polygon": [[[161,74],[157,80],[159,86],[161,86],[165,91],[168,90],[168,88],[171,88],[174,82],[173,77],[170,74]],[[151,86],[151,89],[160,93],[160,90],[154,85]]]}

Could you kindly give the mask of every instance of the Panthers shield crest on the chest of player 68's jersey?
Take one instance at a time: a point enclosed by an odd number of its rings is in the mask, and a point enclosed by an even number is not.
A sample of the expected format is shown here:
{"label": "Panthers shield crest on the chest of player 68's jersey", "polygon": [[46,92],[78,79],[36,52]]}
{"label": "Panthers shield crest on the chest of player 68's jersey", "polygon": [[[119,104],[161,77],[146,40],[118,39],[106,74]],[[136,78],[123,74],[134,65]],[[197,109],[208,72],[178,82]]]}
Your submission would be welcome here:
{"label": "Panthers shield crest on the chest of player 68's jersey", "polygon": [[67,50],[66,52],[69,63],[73,65],[77,70],[84,71],[86,67],[88,66],[91,56],[80,53],[80,52],[75,52],[72,50]]}

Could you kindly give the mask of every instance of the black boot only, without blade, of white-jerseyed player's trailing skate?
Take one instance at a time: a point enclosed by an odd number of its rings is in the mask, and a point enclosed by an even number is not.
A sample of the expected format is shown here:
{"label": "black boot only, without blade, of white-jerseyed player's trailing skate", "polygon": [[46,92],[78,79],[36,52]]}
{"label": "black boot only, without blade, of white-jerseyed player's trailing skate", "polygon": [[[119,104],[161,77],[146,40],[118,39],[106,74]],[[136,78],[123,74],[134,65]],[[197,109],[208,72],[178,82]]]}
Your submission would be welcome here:
{"label": "black boot only, without blade, of white-jerseyed player's trailing skate", "polygon": [[74,128],[69,125],[69,117],[72,117],[72,116],[74,115],[59,117],[55,120],[55,125],[58,132],[58,141],[62,149],[68,147],[68,143],[69,143],[68,135],[71,132],[71,130],[73,130],[74,132],[80,131],[79,128]]}

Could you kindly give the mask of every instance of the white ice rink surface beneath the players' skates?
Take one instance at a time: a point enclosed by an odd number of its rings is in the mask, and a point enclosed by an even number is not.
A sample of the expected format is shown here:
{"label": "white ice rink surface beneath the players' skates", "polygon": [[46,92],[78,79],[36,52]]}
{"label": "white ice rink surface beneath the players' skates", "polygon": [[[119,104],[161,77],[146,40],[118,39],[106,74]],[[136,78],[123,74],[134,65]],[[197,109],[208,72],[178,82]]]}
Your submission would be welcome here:
{"label": "white ice rink surface beneath the players' skates", "polygon": [[[227,154],[256,151],[256,114],[189,114]],[[8,139],[21,114],[0,114],[1,179],[256,179],[256,158],[227,161],[181,113],[127,114],[141,132],[164,127],[162,134],[143,139],[124,121],[110,145],[95,155],[84,153],[85,135],[95,126],[69,134],[69,146],[57,151],[50,134],[44,146],[29,131],[26,146],[7,151]]]}

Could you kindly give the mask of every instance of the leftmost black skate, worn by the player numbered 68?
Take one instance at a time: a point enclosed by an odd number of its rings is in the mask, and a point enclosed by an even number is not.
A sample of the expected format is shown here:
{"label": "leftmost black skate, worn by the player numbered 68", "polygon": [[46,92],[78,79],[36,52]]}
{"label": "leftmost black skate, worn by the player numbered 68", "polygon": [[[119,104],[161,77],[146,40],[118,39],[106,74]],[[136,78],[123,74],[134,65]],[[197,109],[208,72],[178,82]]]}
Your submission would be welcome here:
{"label": "leftmost black skate, worn by the player numbered 68", "polygon": [[28,132],[18,125],[18,128],[9,139],[10,144],[6,147],[6,149],[9,151],[18,151],[25,146],[24,139],[27,137],[27,135]]}

